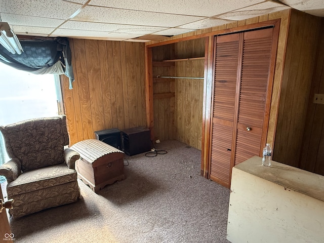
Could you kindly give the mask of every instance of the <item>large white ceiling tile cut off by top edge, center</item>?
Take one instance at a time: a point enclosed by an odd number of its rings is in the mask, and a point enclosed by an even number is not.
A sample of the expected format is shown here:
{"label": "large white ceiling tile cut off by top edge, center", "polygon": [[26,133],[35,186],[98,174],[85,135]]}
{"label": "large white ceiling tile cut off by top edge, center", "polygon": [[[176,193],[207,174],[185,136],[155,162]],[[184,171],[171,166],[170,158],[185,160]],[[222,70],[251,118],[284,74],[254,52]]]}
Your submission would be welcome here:
{"label": "large white ceiling tile cut off by top edge, center", "polygon": [[[130,1],[104,1],[92,0],[89,5],[110,7],[117,9],[133,9],[157,13],[172,13],[192,16],[211,17],[233,9],[240,9],[266,0],[130,0]],[[78,2],[78,1],[76,1]]]}

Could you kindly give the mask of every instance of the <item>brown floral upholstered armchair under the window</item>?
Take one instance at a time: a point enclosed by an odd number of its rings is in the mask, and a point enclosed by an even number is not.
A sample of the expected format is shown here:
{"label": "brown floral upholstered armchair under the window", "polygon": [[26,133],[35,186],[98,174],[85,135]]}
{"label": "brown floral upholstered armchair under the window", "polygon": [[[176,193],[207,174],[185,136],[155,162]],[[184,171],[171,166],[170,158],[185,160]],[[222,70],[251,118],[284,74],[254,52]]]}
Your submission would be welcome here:
{"label": "brown floral upholstered armchair under the window", "polygon": [[80,189],[74,163],[79,154],[66,146],[65,115],[20,121],[0,131],[11,157],[0,166],[0,175],[8,182],[8,199],[14,199],[11,216],[19,218],[77,200]]}

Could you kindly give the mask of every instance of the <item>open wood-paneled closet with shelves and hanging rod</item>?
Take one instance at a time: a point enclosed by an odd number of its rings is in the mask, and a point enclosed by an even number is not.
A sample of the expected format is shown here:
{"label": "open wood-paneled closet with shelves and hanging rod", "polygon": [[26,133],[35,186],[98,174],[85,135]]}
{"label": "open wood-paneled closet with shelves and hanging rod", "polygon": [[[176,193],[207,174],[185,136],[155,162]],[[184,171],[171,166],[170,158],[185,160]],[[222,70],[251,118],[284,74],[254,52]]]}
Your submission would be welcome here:
{"label": "open wood-paneled closet with shelves and hanging rod", "polygon": [[152,47],[151,139],[201,150],[205,38]]}

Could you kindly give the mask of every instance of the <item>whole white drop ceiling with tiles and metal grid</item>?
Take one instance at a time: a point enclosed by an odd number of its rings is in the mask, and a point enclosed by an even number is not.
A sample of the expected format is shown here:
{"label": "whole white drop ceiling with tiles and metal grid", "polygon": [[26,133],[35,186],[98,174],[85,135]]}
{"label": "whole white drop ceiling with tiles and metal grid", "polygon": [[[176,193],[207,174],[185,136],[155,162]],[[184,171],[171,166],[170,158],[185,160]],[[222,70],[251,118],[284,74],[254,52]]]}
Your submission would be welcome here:
{"label": "whole white drop ceiling with tiles and metal grid", "polygon": [[141,42],[290,8],[324,17],[323,0],[0,1],[2,21],[18,35]]}

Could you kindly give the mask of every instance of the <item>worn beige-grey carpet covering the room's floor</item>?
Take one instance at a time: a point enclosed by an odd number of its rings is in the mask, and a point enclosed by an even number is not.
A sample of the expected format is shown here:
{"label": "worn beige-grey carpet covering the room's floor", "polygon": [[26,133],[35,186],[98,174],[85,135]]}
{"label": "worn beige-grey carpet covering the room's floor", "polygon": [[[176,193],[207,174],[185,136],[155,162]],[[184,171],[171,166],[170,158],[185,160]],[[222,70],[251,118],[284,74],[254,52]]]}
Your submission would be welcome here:
{"label": "worn beige-grey carpet covering the room's floor", "polygon": [[229,242],[229,190],[200,176],[200,151],[156,148],[168,153],[126,156],[127,179],[98,194],[79,181],[76,203],[10,219],[16,242]]}

